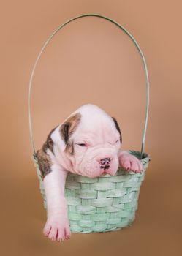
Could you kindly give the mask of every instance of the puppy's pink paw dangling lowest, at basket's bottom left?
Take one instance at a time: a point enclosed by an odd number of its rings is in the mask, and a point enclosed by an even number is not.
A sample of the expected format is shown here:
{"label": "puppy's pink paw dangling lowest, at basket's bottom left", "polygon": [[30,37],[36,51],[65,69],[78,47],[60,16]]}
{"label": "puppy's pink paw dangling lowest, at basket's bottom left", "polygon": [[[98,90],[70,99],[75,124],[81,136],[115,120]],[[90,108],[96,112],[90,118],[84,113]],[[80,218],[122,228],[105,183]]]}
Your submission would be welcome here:
{"label": "puppy's pink paw dangling lowest, at basket's bottom left", "polygon": [[52,241],[61,242],[64,239],[70,238],[71,232],[67,217],[63,217],[62,215],[48,217],[43,233]]}

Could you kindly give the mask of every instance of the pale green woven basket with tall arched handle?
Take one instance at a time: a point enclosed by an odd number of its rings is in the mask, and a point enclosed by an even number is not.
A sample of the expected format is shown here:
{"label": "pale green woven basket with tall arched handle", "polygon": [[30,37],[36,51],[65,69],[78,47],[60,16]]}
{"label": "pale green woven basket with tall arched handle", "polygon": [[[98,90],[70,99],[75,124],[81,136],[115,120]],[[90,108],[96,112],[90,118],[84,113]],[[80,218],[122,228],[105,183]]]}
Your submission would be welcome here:
{"label": "pale green woven basket with tall arched handle", "polygon": [[134,42],[140,56],[143,60],[146,79],[146,114],[145,124],[143,129],[143,140],[141,151],[129,151],[140,162],[143,163],[143,173],[133,173],[132,171],[126,171],[119,167],[115,176],[108,174],[99,176],[97,178],[87,178],[79,176],[73,173],[69,173],[67,176],[65,186],[65,196],[67,197],[68,217],[70,223],[70,229],[74,233],[92,233],[92,232],[106,232],[111,230],[120,230],[122,227],[130,226],[134,221],[135,212],[138,206],[138,197],[140,193],[140,186],[145,177],[145,170],[148,167],[150,157],[148,154],[143,153],[145,145],[145,134],[148,121],[148,105],[149,105],[149,81],[148,70],[145,63],[143,53],[137,44],[134,37],[129,34],[123,26],[116,23],[114,20],[98,14],[85,14],[79,15],[71,20],[67,20],[66,23],[61,26],[50,35],[48,40],[43,45],[42,49],[37,56],[33,70],[31,72],[31,78],[29,81],[29,96],[28,96],[28,108],[29,108],[29,129],[31,136],[31,146],[33,149],[32,159],[37,170],[37,176],[39,178],[40,192],[44,200],[44,207],[46,208],[46,196],[45,189],[43,187],[42,175],[39,170],[38,160],[36,157],[36,150],[34,147],[34,138],[31,125],[31,84],[34,76],[34,71],[37,66],[37,62],[45,49],[46,45],[50,42],[53,36],[67,23],[77,18],[86,16],[96,16],[111,21],[122,29]]}

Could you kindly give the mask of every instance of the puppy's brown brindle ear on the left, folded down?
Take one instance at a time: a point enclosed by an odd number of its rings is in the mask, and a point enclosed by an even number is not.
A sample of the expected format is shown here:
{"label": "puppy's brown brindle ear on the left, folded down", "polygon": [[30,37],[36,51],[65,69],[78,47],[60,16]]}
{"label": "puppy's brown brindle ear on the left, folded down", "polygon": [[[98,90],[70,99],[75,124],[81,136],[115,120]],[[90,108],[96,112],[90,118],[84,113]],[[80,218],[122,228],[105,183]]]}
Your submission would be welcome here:
{"label": "puppy's brown brindle ear on the left, folded down", "polygon": [[64,124],[61,125],[59,133],[66,145],[69,142],[69,137],[73,134],[73,132],[75,132],[75,129],[77,128],[78,124],[80,124],[80,120],[81,114],[76,113],[73,116],[69,116],[69,118],[67,118]]}

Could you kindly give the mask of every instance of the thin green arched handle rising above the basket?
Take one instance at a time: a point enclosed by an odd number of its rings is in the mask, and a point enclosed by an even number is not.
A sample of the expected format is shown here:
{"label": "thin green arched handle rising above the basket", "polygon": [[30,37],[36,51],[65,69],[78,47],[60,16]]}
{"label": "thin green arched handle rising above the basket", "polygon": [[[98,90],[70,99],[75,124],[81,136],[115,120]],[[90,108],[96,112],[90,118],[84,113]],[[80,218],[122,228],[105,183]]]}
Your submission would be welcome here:
{"label": "thin green arched handle rising above the basket", "polygon": [[33,156],[34,158],[36,158],[36,151],[35,151],[35,146],[34,146],[34,138],[33,138],[33,131],[32,131],[32,124],[31,124],[31,107],[30,107],[30,99],[31,99],[31,86],[32,86],[32,80],[33,80],[33,77],[34,77],[34,71],[37,67],[37,63],[40,59],[40,56],[42,55],[42,52],[43,50],[45,50],[45,47],[48,45],[48,43],[50,42],[50,40],[55,36],[55,34],[58,33],[58,31],[64,27],[65,25],[67,25],[69,22],[71,22],[72,20],[76,20],[77,18],[82,18],[82,17],[86,17],[86,16],[96,16],[96,17],[99,17],[99,18],[104,18],[105,20],[109,20],[110,22],[114,23],[116,26],[118,26],[121,30],[123,30],[131,39],[132,41],[134,42],[134,45],[137,47],[137,50],[139,51],[140,53],[140,56],[142,58],[142,61],[143,61],[143,66],[144,66],[144,69],[145,69],[145,83],[146,83],[146,110],[145,110],[145,123],[144,123],[144,127],[143,127],[143,137],[142,137],[142,146],[141,146],[141,151],[140,151],[140,154],[141,154],[141,159],[142,159],[142,156],[143,156],[143,149],[144,149],[144,146],[145,146],[145,135],[146,135],[146,129],[147,129],[147,123],[148,123],[148,106],[149,106],[149,80],[148,80],[148,69],[147,69],[147,65],[146,65],[146,62],[145,62],[145,57],[143,55],[143,52],[142,50],[140,49],[140,46],[137,44],[136,40],[134,39],[134,37],[132,36],[132,34],[129,33],[129,31],[127,31],[126,29],[124,29],[123,26],[121,26],[119,23],[117,23],[115,20],[112,20],[110,18],[107,18],[106,16],[104,15],[99,15],[99,14],[94,14],[94,13],[88,13],[88,14],[83,14],[83,15],[78,15],[74,18],[71,18],[70,20],[67,20],[65,23],[63,23],[61,26],[58,26],[58,28],[53,31],[53,34],[50,35],[50,37],[47,39],[47,41],[45,42],[45,44],[43,45],[42,49],[40,50],[38,56],[37,56],[37,59],[34,63],[34,67],[31,71],[31,76],[30,76],[30,80],[29,80],[29,93],[28,93],[28,111],[29,111],[29,132],[30,132],[30,137],[31,137],[31,146],[32,146],[32,149],[33,149]]}

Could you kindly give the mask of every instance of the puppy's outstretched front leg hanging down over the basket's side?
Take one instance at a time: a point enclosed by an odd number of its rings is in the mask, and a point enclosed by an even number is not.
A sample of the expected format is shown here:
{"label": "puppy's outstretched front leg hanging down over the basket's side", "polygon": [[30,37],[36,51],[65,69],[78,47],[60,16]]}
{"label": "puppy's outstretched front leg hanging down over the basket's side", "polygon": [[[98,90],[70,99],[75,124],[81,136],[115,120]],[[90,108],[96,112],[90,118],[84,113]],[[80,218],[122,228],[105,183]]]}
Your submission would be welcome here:
{"label": "puppy's outstretched front leg hanging down over the basket's side", "polygon": [[48,212],[43,233],[53,241],[63,241],[71,236],[67,217],[67,201],[64,197],[67,171],[61,170],[55,163],[50,169],[50,173],[43,179]]}

